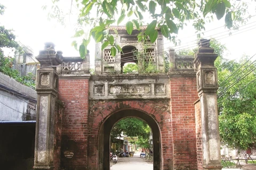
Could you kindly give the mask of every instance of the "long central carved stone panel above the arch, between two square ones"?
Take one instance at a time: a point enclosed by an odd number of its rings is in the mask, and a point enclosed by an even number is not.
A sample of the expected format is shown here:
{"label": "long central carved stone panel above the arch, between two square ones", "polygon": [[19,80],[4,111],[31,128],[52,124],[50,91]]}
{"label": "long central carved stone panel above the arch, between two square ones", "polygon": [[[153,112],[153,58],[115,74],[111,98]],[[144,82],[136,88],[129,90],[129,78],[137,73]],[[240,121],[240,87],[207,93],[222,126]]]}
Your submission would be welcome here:
{"label": "long central carved stone panel above the arch, between two square ones", "polygon": [[151,84],[118,84],[109,85],[108,87],[109,95],[150,95],[151,94]]}

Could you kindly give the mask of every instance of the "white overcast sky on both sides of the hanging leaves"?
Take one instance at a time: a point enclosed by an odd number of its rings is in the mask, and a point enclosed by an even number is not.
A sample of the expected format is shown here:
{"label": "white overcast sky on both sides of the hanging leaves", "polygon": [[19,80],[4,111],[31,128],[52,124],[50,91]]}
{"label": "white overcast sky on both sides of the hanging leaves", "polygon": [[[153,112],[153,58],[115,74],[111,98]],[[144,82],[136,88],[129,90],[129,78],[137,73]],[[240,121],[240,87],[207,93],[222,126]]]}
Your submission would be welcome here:
{"label": "white overcast sky on both sides of the hanging leaves", "polygon": [[[71,1],[62,2],[70,5]],[[45,3],[51,5],[50,0],[2,0],[1,4],[6,6],[6,10],[4,15],[0,16],[0,24],[7,29],[15,30],[17,40],[23,45],[30,46],[34,50],[35,56],[38,55],[39,50],[44,48],[44,43],[47,41],[53,42],[56,50],[62,50],[63,56],[79,56],[79,53],[70,45],[73,41],[71,37],[75,32],[75,26],[72,24],[75,18],[70,16],[66,27],[57,22],[48,21],[47,11],[42,10]],[[255,5],[251,7],[251,15],[255,15]],[[251,24],[246,27],[250,28],[241,28],[240,31],[234,32],[233,36],[228,36],[229,31],[221,27],[224,25],[223,20],[212,22],[206,25],[205,38],[216,38],[225,44],[230,52],[227,58],[236,59],[242,54],[252,56],[256,53],[254,43],[256,39],[256,16],[248,23]],[[191,41],[195,43],[197,38],[194,32],[190,27],[185,27],[183,31],[179,31],[179,38],[183,45],[181,48],[186,48],[184,45],[191,45]],[[173,47],[173,45],[166,41],[165,47]],[[91,48],[94,48],[93,44],[89,47],[90,54],[93,55],[94,49]]]}

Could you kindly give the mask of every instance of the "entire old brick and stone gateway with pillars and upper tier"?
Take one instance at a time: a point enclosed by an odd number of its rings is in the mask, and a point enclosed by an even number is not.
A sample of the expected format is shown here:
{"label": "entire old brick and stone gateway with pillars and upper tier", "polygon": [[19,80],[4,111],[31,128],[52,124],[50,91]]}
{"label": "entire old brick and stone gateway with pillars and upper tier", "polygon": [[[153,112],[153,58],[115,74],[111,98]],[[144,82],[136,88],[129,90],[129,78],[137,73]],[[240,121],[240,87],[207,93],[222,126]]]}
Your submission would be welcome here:
{"label": "entire old brick and stone gateway with pillars and upper tier", "polygon": [[[138,31],[119,30],[121,48],[141,49]],[[62,57],[46,44],[37,57],[34,169],[110,169],[110,130],[125,117],[141,118],[152,129],[154,170],[221,169],[217,55],[205,40],[195,58],[170,50],[170,70],[163,73],[162,44],[159,34],[142,50],[144,58],[137,57],[139,66],[150,63],[158,73],[122,74],[125,55],[113,57],[110,47],[97,46],[93,75],[89,56]]]}

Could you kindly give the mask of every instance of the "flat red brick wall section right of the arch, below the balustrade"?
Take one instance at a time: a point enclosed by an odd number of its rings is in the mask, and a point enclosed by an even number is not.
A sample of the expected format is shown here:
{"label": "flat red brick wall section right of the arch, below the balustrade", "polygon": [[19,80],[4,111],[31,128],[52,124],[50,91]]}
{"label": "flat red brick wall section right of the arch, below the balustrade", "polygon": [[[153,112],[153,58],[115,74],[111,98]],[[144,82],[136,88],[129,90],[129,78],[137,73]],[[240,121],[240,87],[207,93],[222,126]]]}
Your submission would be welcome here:
{"label": "flat red brick wall section right of the arch, below the balustrade", "polygon": [[196,78],[171,78],[171,122],[174,169],[197,169],[194,102]]}

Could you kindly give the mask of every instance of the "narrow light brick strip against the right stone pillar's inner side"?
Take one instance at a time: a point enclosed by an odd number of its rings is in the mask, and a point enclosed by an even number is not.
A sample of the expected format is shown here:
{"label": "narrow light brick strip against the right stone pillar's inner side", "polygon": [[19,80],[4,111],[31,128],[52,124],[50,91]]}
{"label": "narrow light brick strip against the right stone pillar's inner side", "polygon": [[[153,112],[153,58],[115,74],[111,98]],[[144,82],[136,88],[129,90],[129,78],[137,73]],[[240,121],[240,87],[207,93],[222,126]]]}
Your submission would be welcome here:
{"label": "narrow light brick strip against the right stone pillar's inner side", "polygon": [[195,103],[196,110],[196,150],[197,150],[197,167],[203,169],[203,146],[202,146],[202,126],[201,126],[201,104],[200,100]]}

